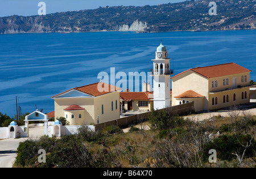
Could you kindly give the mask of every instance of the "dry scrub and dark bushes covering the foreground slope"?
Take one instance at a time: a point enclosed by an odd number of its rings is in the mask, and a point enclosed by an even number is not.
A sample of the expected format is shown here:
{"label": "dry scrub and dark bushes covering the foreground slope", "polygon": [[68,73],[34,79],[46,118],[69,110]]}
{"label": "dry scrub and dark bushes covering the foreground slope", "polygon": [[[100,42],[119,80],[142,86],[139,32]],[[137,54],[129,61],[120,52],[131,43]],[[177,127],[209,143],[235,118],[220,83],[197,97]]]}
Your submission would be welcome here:
{"label": "dry scrub and dark bushes covering the foreground slope", "polygon": [[[256,116],[230,112],[196,122],[160,110],[148,119],[150,130],[141,125],[128,133],[115,126],[96,132],[82,126],[76,135],[26,140],[19,144],[15,167],[256,167]],[[46,163],[38,162],[40,149],[46,150]],[[209,163],[211,149],[217,163]]]}

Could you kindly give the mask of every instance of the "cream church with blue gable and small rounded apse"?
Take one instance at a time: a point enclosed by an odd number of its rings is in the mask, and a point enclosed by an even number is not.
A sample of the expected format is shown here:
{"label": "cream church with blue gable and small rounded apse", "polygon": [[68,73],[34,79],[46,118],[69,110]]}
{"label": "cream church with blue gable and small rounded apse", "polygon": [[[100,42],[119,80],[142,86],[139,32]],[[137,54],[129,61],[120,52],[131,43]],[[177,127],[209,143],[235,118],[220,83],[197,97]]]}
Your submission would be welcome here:
{"label": "cream church with blue gable and small rounded apse", "polygon": [[[100,91],[104,87],[105,91]],[[55,118],[65,117],[70,125],[90,125],[120,117],[121,88],[98,82],[52,96]]]}

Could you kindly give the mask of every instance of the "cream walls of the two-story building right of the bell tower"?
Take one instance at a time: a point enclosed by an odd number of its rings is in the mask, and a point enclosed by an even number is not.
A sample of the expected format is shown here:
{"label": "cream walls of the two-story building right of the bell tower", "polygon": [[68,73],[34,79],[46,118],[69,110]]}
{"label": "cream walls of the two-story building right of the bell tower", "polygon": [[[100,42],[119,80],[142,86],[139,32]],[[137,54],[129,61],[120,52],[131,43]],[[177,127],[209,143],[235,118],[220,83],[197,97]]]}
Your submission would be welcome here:
{"label": "cream walls of the two-story building right of the bell tower", "polygon": [[[245,75],[247,76],[247,80],[245,82]],[[241,77],[243,76],[243,82],[241,81]],[[223,79],[225,79],[225,85],[223,83]],[[226,79],[228,79],[229,84],[226,84]],[[234,85],[233,79],[236,79],[236,84]],[[215,82],[217,80],[217,87],[215,86]],[[212,87],[212,82],[214,82],[214,87]],[[220,109],[232,105],[239,105],[244,103],[249,103],[250,101],[250,73],[241,73],[235,75],[227,75],[221,76],[217,78],[205,78],[193,71],[187,71],[184,74],[176,76],[172,79],[172,105],[179,105],[179,102],[182,100],[185,101],[194,101],[195,110],[213,110]],[[240,87],[238,87],[240,86]],[[192,90],[200,95],[205,96],[200,99],[175,99],[174,96],[180,95],[181,93]],[[242,99],[242,92],[247,92],[247,98]],[[236,93],[236,101],[233,101],[233,94]],[[223,97],[226,95],[229,96],[229,102],[223,103]],[[217,97],[218,104],[212,105],[212,98],[214,100]]]}

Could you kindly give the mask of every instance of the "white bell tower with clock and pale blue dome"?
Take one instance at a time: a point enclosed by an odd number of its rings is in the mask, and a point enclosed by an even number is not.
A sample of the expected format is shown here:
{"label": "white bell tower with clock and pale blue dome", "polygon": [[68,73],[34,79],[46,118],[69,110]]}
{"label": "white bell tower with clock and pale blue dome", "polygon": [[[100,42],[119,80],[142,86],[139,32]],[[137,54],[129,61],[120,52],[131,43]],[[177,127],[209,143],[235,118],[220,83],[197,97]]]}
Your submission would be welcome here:
{"label": "white bell tower with clock and pale blue dome", "polygon": [[162,42],[156,49],[155,59],[152,61],[154,62],[154,109],[170,107],[170,58]]}

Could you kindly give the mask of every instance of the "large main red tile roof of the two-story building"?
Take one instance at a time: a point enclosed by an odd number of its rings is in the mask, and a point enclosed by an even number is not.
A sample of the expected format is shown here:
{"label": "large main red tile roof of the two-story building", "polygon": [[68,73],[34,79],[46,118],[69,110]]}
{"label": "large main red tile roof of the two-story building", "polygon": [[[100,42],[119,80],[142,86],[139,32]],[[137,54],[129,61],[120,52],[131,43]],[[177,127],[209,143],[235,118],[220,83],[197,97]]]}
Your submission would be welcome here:
{"label": "large main red tile roof of the two-story building", "polygon": [[[221,64],[221,65],[196,67],[194,69],[189,69],[189,70],[194,71],[197,74],[203,75],[206,78],[217,78],[220,76],[228,76],[228,75],[234,75],[234,74],[240,74],[240,73],[247,73],[247,72],[251,71],[251,70],[246,69],[245,67],[237,65],[236,63],[225,63],[225,64]],[[186,73],[189,70],[183,71],[180,74],[173,76],[172,78],[175,78],[176,76]]]}

